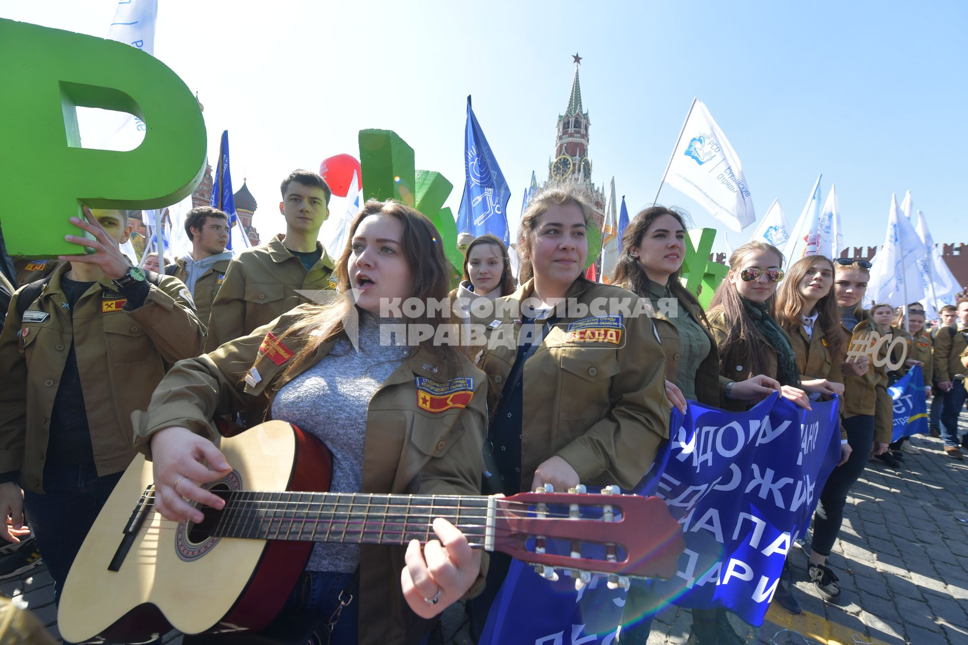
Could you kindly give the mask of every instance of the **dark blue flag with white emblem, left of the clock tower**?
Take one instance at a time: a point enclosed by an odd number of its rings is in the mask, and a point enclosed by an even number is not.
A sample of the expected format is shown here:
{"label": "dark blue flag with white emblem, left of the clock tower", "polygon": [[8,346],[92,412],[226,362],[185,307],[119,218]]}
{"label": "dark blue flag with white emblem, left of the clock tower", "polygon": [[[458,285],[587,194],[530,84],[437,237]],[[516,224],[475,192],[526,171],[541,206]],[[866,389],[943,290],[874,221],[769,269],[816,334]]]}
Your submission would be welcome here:
{"label": "dark blue flag with white emblem, left of the clock tower", "polygon": [[510,198],[511,191],[470,109],[468,97],[468,125],[464,129],[464,195],[457,212],[457,232],[474,237],[491,233],[508,245],[510,232],[506,207]]}

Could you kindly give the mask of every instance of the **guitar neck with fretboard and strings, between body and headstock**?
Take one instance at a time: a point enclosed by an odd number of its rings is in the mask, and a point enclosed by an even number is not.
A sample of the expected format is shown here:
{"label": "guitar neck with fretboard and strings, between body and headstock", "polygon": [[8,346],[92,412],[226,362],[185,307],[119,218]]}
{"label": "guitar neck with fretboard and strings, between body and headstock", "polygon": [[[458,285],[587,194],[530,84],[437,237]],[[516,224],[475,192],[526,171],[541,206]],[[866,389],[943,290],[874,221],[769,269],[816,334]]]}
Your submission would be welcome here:
{"label": "guitar neck with fretboard and strings, between body and headstock", "polygon": [[217,513],[206,509],[198,526],[217,537],[407,544],[434,539],[432,523],[443,517],[464,532],[471,547],[494,550],[493,497],[252,490],[220,496],[225,508]]}

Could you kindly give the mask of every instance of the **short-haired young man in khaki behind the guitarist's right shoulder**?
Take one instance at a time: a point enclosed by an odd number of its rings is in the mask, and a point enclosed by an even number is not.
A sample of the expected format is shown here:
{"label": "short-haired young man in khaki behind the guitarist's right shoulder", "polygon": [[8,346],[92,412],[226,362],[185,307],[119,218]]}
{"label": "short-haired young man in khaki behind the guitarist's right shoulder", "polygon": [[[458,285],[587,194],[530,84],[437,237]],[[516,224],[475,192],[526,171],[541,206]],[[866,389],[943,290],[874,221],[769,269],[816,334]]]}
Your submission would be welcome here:
{"label": "short-haired young man in khaki behind the guitarist's right shoulder", "polygon": [[298,291],[332,286],[333,260],[317,241],[319,228],[329,217],[332,191],[308,170],[293,170],[280,188],[279,212],[286,218],[286,234],[242,251],[229,263],[212,303],[207,352],[314,300]]}

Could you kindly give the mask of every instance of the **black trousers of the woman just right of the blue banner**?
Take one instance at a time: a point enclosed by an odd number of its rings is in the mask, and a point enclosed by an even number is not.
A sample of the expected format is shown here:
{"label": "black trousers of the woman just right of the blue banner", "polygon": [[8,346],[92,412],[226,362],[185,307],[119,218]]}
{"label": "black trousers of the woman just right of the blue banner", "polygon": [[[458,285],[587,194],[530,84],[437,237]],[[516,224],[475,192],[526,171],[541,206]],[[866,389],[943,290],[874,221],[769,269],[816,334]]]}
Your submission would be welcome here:
{"label": "black trousers of the woman just right of the blue banner", "polygon": [[847,492],[861,477],[867,456],[874,445],[874,417],[873,415],[857,415],[842,420],[843,428],[847,431],[847,443],[852,453],[847,463],[833,469],[831,476],[824,484],[817,503],[817,513],[813,515],[812,551],[818,555],[831,554],[833,542],[840,532],[843,522],[844,505],[847,503]]}

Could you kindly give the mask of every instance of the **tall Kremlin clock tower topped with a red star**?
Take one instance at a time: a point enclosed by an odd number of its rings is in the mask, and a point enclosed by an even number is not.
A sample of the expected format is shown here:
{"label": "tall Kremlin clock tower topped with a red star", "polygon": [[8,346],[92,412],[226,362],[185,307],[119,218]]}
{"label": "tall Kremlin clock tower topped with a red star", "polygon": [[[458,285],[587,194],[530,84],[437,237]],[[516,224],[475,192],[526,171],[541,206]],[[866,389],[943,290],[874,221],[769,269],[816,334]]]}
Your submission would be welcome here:
{"label": "tall Kremlin clock tower topped with a red star", "polygon": [[555,138],[555,157],[548,162],[550,182],[575,182],[587,191],[594,210],[595,223],[601,228],[605,218],[605,191],[591,183],[591,160],[589,158],[589,113],[582,111],[582,88],[578,82],[578,66],[582,57],[577,53],[575,77],[571,81],[571,94],[564,114],[558,117]]}

